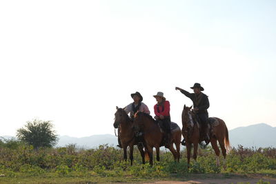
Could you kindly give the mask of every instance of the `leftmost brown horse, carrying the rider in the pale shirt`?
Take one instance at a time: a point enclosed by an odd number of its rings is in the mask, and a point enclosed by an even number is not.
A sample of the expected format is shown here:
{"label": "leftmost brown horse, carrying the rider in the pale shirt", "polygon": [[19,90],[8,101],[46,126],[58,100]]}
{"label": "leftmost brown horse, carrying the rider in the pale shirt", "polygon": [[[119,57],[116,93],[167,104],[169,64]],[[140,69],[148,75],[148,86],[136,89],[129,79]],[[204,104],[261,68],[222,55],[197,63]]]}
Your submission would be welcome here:
{"label": "leftmost brown horse, carrying the rider in the pale shirt", "polygon": [[[135,132],[133,129],[133,122],[130,120],[128,114],[122,109],[117,108],[117,111],[115,112],[115,122],[113,126],[115,128],[121,127],[121,145],[124,149],[124,160],[127,159],[126,149],[129,146],[130,147],[130,165],[132,165],[133,161],[133,146],[137,145],[137,141],[135,140]],[[143,150],[143,146],[138,145],[138,149],[140,151],[142,162],[145,163],[145,153]]]}

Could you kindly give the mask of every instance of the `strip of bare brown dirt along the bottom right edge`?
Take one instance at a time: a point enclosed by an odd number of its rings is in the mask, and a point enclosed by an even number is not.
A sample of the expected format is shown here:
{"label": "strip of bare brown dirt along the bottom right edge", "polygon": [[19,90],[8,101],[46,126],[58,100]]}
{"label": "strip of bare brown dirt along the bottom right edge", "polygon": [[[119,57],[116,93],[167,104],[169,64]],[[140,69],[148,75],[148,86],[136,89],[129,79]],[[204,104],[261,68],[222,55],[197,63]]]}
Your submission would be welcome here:
{"label": "strip of bare brown dirt along the bottom right edge", "polygon": [[[152,182],[152,183],[157,183],[157,184],[201,184],[201,183],[206,183],[206,184],[237,184],[237,183],[244,183],[249,182],[250,184],[257,183],[260,179],[262,181],[269,181],[270,184],[276,184],[276,178],[206,178],[206,179],[191,179],[189,181],[157,181],[157,182]],[[150,184],[150,183],[148,183]]]}

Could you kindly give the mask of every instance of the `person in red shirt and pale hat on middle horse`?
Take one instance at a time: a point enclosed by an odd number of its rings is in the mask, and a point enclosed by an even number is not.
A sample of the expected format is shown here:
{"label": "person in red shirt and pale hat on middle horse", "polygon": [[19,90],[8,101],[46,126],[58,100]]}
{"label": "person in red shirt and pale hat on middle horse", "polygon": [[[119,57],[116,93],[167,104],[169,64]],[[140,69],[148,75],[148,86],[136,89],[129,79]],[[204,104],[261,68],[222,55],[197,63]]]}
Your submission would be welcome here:
{"label": "person in red shirt and pale hat on middle horse", "polygon": [[157,101],[155,104],[155,119],[161,121],[165,128],[165,147],[170,147],[170,102],[166,101],[163,92],[153,95]]}

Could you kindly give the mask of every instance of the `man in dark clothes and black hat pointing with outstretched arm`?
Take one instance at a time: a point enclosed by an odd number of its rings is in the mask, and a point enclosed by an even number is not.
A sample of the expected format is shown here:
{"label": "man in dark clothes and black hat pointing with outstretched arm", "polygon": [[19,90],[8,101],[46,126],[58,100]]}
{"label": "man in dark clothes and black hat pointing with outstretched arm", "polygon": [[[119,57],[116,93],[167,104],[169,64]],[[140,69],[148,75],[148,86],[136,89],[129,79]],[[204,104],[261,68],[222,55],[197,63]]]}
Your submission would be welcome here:
{"label": "man in dark clothes and black hat pointing with outstretched arm", "polygon": [[[201,91],[204,91],[204,88],[201,87],[200,83],[195,83],[193,87],[191,87],[195,93],[187,92],[186,90],[182,90],[181,88],[175,87],[175,90],[180,90],[185,96],[190,98],[193,101],[193,111],[197,115],[199,119],[199,123],[202,126],[202,134],[204,135],[204,141],[206,145],[210,143],[210,136],[209,136],[209,127],[208,127],[208,111],[209,108],[209,100],[208,96]],[[185,145],[185,140],[182,141]]]}

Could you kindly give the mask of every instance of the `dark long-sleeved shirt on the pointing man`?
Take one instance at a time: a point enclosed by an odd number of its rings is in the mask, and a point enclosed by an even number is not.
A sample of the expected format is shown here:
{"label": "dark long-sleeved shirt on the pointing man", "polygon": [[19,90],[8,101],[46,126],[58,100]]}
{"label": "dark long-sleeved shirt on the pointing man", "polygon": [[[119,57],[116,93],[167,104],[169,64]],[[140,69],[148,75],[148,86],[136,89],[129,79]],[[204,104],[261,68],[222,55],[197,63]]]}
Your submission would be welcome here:
{"label": "dark long-sleeved shirt on the pointing man", "polygon": [[206,94],[204,94],[203,92],[200,92],[199,94],[195,94],[195,93],[187,92],[185,90],[180,90],[180,92],[193,101],[194,108],[199,109],[197,113],[207,112],[207,109],[209,108],[210,103],[209,103],[208,96]]}

